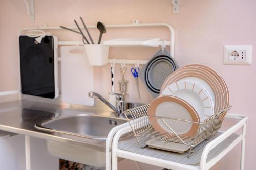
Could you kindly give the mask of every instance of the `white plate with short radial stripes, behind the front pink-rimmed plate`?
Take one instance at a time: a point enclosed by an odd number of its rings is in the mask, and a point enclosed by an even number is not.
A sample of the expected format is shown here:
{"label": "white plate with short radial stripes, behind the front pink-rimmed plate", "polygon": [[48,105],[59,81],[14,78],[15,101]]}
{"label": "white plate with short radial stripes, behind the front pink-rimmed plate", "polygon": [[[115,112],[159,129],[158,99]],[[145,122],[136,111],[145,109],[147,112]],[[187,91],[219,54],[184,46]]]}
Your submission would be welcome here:
{"label": "white plate with short radial stripes, behind the front pink-rimmed plate", "polygon": [[214,102],[209,92],[196,82],[175,82],[165,88],[161,95],[173,95],[187,101],[197,110],[201,122],[214,115]]}

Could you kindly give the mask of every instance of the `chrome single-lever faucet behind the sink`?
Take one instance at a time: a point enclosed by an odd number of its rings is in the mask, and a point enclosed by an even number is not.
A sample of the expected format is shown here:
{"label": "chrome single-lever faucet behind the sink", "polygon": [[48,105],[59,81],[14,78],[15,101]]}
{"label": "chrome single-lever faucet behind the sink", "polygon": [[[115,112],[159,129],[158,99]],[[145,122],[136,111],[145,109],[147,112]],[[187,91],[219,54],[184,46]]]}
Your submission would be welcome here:
{"label": "chrome single-lever faucet behind the sink", "polygon": [[94,98],[94,96],[96,96],[104,104],[106,104],[112,110],[114,110],[116,112],[116,114],[117,114],[117,117],[120,117],[120,115],[124,111],[124,98],[123,98],[123,95],[119,94],[119,93],[110,93],[110,94],[116,96],[116,106],[113,106],[110,102],[108,102],[106,99],[104,99],[102,95],[100,95],[100,94],[98,94],[96,92],[89,91],[88,96],[90,98]]}

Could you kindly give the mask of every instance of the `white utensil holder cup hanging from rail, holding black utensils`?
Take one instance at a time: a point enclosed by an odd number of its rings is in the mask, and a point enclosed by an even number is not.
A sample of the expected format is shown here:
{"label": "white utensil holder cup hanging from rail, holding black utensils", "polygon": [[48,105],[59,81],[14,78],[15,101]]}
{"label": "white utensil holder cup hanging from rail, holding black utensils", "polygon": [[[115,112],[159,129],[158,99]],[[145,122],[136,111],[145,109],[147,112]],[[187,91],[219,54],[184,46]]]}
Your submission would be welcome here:
{"label": "white utensil holder cup hanging from rail, holding black utensils", "polygon": [[103,44],[86,44],[86,54],[90,65],[102,66],[108,64],[109,46]]}

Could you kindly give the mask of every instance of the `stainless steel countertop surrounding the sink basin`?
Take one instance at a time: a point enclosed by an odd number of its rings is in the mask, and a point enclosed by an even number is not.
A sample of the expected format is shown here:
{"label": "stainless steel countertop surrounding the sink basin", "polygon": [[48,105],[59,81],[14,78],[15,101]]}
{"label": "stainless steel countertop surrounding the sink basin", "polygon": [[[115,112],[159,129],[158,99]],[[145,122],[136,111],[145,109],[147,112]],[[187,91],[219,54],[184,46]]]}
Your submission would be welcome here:
{"label": "stainless steel countertop surrounding the sink basin", "polygon": [[[100,106],[98,106],[99,108]],[[30,100],[20,100],[0,103],[0,130],[17,134],[33,136],[41,139],[66,142],[69,144],[86,147],[88,144],[95,147],[105,147],[105,141],[51,133],[38,130],[34,125],[49,118],[70,116],[74,114],[97,114],[115,116],[110,111],[96,110],[96,107],[78,107],[70,105],[58,105]],[[104,110],[103,105],[100,109]]]}

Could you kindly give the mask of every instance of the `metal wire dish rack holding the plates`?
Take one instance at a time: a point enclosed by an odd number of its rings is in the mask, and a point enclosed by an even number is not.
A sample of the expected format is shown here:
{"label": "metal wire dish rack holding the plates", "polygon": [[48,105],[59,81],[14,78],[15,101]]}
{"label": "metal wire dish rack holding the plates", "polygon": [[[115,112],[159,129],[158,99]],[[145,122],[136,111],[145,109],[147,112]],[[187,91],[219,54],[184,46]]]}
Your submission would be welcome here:
{"label": "metal wire dish rack holding the plates", "polygon": [[[211,117],[208,117],[207,119],[205,119],[204,122],[192,122],[190,120],[184,120],[184,119],[178,119],[178,118],[172,118],[172,117],[147,115],[148,106],[149,104],[146,104],[146,105],[134,107],[132,109],[129,109],[123,112],[126,119],[129,121],[129,124],[134,133],[134,136],[136,137],[140,147],[144,148],[142,147],[142,144],[139,140],[139,137],[141,136],[159,139],[162,141],[163,144],[167,142],[183,143],[190,147],[188,152],[188,157],[196,153],[198,150],[200,150],[200,148],[202,148],[205,144],[207,144],[210,141],[210,139],[215,137],[216,133],[221,128],[221,124],[224,120],[224,116],[226,115],[227,111],[231,108],[231,106],[229,106],[226,109],[223,109],[222,111],[217,112]],[[153,117],[154,121],[150,122],[149,117]],[[130,122],[130,120],[133,120],[133,124]],[[173,134],[155,131],[152,125],[158,122],[159,120],[161,120],[166,125],[166,127],[168,127],[168,130],[170,132],[173,132]],[[196,134],[194,135],[194,137],[179,135],[173,130],[172,125],[168,124],[166,120],[175,120],[179,122],[197,124],[198,128],[197,128]],[[200,145],[200,147],[195,148],[201,142],[203,142],[203,144]]]}

